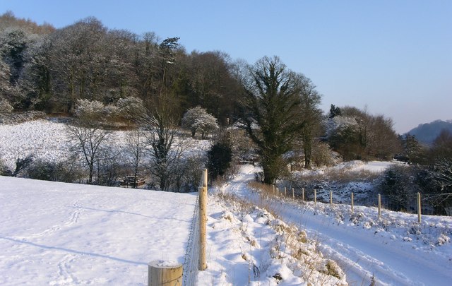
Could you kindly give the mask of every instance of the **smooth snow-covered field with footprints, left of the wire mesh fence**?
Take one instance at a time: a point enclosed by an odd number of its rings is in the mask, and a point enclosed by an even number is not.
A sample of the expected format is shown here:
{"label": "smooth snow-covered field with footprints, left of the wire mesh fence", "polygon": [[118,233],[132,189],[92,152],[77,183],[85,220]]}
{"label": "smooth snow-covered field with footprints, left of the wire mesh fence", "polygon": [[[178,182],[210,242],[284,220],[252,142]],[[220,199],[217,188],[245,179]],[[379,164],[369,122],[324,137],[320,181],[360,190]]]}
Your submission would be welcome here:
{"label": "smooth snow-covered field with footprints, left of the wire mesh fence", "polygon": [[184,262],[196,196],[0,177],[0,285],[147,285]]}

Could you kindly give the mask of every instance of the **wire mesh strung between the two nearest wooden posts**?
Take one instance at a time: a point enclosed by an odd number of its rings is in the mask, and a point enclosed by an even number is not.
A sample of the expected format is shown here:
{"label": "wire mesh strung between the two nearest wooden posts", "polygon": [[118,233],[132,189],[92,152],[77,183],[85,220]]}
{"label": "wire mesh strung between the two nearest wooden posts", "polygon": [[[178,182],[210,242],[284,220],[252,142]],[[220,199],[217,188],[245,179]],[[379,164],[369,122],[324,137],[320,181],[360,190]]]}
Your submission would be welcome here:
{"label": "wire mesh strung between the two nearest wooden posts", "polygon": [[199,265],[199,196],[196,196],[195,210],[191,218],[189,241],[184,256],[183,286],[196,285]]}

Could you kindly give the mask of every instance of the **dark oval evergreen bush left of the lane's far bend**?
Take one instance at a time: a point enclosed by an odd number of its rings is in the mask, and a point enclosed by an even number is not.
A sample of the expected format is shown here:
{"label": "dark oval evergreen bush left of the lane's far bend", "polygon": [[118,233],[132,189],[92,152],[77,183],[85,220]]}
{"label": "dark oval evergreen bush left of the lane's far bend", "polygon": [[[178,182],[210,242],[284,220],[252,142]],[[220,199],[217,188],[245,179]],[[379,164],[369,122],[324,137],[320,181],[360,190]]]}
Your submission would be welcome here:
{"label": "dark oval evergreen bush left of the lane's far bend", "polygon": [[228,143],[215,143],[207,153],[207,169],[211,180],[225,174],[232,161],[232,149]]}

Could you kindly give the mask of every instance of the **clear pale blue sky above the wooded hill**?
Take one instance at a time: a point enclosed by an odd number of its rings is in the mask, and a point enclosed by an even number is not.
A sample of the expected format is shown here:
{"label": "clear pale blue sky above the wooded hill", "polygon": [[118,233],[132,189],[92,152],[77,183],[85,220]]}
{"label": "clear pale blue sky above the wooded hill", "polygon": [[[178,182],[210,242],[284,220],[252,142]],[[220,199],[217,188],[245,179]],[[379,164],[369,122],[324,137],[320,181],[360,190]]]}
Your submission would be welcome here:
{"label": "clear pale blue sky above the wooded hill", "polygon": [[0,13],[56,28],[95,16],[108,28],[187,52],[220,50],[254,63],[277,55],[331,104],[384,114],[397,132],[452,119],[452,1],[0,0]]}

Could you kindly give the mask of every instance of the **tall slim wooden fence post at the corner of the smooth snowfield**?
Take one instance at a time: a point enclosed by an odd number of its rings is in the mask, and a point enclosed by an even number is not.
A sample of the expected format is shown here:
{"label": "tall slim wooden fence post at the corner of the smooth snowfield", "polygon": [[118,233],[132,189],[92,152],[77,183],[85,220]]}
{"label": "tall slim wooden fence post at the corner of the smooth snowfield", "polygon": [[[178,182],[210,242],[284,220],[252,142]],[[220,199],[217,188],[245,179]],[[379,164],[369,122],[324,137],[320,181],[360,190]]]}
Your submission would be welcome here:
{"label": "tall slim wooden fence post at the corner of the smooth snowfield", "polygon": [[207,222],[207,169],[203,172],[203,186],[199,187],[199,270],[207,268],[206,263]]}

